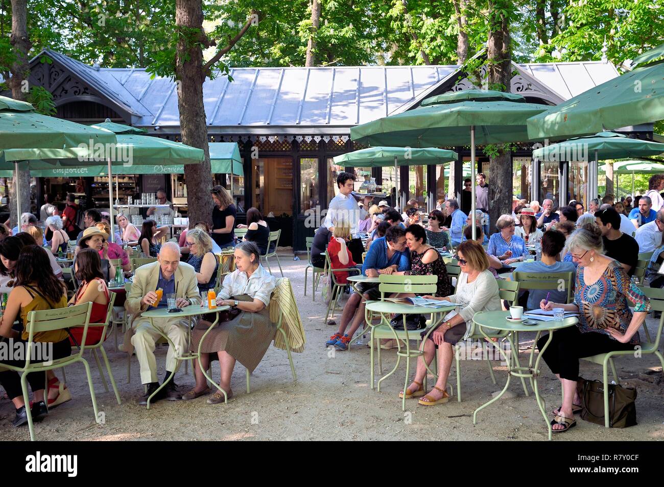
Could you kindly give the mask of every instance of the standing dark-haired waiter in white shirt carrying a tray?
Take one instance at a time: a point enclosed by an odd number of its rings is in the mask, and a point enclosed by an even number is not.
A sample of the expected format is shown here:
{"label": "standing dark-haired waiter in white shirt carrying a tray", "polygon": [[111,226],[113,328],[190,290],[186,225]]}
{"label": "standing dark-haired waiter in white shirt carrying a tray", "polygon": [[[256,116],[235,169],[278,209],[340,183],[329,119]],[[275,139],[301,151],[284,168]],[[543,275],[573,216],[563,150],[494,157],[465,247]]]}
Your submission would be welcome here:
{"label": "standing dark-haired waiter in white shirt carrying a tray", "polygon": [[337,186],[339,186],[339,194],[330,201],[323,225],[330,232],[333,232],[335,221],[349,222],[352,240],[348,243],[348,250],[353,254],[353,261],[362,262],[362,253],[365,248],[359,234],[360,207],[352,194],[355,186],[355,175],[349,172],[339,173]]}

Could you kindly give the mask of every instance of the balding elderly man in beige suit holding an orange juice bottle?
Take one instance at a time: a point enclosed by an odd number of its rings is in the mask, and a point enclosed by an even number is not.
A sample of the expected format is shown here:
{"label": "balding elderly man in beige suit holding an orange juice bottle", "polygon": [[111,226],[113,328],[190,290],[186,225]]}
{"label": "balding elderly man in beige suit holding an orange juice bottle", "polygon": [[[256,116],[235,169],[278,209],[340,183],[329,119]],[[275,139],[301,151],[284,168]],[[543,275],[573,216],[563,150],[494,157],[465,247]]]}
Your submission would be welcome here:
{"label": "balding elderly man in beige suit holding an orange juice bottle", "polygon": [[[159,288],[163,289],[161,301],[157,301]],[[161,337],[152,327],[150,320],[141,318],[141,313],[150,307],[166,307],[166,296],[175,294],[178,307],[192,304],[200,304],[199,288],[196,280],[196,272],[192,266],[180,262],[180,248],[175,242],[167,242],[161,246],[157,262],[145,264],[137,268],[133,276],[131,292],[125,301],[127,313],[134,315],[133,328],[135,334],[131,337],[131,345],[136,351],[136,357],[141,368],[141,384],[147,384],[147,394],[142,396],[138,404],[147,404],[147,398],[159,388],[157,382],[157,362],[155,360],[155,341]],[[159,329],[175,345],[175,350],[169,347],[166,354],[166,375],[169,376],[177,360],[175,356],[183,354],[187,349],[187,326],[186,318],[154,318],[154,327]],[[171,401],[181,399],[177,392],[177,386],[171,380],[166,387],[159,391],[153,398],[155,400],[166,398]]]}

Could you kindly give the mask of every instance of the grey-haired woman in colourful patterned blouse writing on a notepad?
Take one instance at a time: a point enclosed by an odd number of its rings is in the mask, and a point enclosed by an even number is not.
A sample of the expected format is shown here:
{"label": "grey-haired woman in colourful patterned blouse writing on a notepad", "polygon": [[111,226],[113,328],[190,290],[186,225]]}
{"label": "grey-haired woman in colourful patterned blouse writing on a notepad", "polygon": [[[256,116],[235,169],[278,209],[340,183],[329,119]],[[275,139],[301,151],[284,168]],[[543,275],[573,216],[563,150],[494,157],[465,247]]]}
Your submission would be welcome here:
{"label": "grey-haired woman in colourful patterned blouse writing on a notepad", "polygon": [[[579,359],[635,349],[639,345],[638,330],[650,311],[649,299],[631,282],[620,263],[604,255],[598,227],[588,225],[576,230],[568,239],[568,248],[578,263],[574,302],[540,301],[542,309],[558,307],[579,313],[577,325],[556,331],[542,353],[544,362],[562,384],[562,406],[554,409],[551,421],[554,433],[574,427],[574,414],[581,412],[576,390]],[[630,301],[634,303],[633,313]],[[548,338],[537,342],[540,351]]]}

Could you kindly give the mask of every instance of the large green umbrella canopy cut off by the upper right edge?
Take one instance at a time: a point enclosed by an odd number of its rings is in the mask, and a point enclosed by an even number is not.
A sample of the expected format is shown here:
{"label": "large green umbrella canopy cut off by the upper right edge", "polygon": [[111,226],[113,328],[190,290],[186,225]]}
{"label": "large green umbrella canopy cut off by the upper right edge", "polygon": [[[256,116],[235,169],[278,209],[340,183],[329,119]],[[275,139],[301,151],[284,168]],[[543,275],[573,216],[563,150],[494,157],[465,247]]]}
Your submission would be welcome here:
{"label": "large green umbrella canopy cut off by the upper right edge", "polygon": [[592,135],[664,119],[664,63],[636,68],[531,117],[533,139]]}

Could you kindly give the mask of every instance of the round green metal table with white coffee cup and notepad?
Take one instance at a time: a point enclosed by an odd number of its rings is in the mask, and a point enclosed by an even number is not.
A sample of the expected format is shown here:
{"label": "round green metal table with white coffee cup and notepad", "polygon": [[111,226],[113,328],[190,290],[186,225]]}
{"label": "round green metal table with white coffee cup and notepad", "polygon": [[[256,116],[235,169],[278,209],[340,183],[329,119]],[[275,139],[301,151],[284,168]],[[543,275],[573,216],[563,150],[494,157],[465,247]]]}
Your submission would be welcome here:
{"label": "round green metal table with white coffee cup and notepad", "polygon": [[[578,319],[576,319],[576,317],[569,317],[563,319],[562,321],[537,321],[537,325],[524,325],[523,323],[514,323],[512,321],[507,321],[507,319],[505,318],[508,316],[509,316],[509,311],[485,311],[485,312],[480,311],[479,313],[475,313],[475,316],[473,316],[473,323],[479,326],[479,331],[487,339],[489,345],[493,345],[493,347],[498,349],[499,353],[505,359],[505,363],[507,363],[507,370],[508,370],[507,383],[505,384],[503,390],[501,390],[500,394],[498,394],[498,396],[491,399],[486,404],[483,404],[482,406],[479,406],[477,409],[475,409],[475,412],[473,413],[473,425],[477,424],[477,413],[481,409],[484,409],[485,407],[489,406],[489,404],[496,402],[503,396],[503,394],[505,394],[505,391],[507,391],[507,388],[509,387],[509,380],[512,376],[522,378],[522,380],[523,378],[528,378],[531,381],[531,387],[535,392],[535,400],[537,400],[537,406],[539,406],[539,409],[542,412],[542,416],[544,417],[544,422],[546,423],[546,427],[548,428],[548,439],[551,439],[551,425],[549,423],[548,417],[546,416],[546,411],[545,411],[546,404],[544,403],[544,399],[540,397],[539,389],[537,386],[537,378],[541,374],[539,369],[539,364],[542,358],[542,354],[546,350],[546,347],[548,347],[548,344],[551,343],[554,331],[574,326],[576,325],[576,323],[578,323]],[[520,331],[534,331],[536,335],[535,335],[535,340],[533,341],[533,347],[531,348],[531,356],[528,362],[528,366],[521,367],[518,365],[517,361],[513,362],[512,360],[510,360],[510,358],[505,354],[505,351],[503,351],[503,349],[498,346],[499,344],[491,341],[491,337],[489,337],[489,335],[487,335],[487,333],[485,333],[484,331],[485,328],[490,328],[498,331],[506,331],[507,332],[506,338],[509,341],[511,350],[513,352],[516,351],[517,353],[519,349],[515,347],[514,343],[515,333],[519,333]],[[544,347],[542,347],[542,350],[540,350],[539,354],[537,355],[537,360],[535,360],[535,364],[533,364],[533,359],[535,358],[535,347],[537,346],[537,341],[539,340],[540,335],[542,335],[543,331],[548,331],[548,339],[546,340]],[[515,364],[517,365],[515,366]]]}

